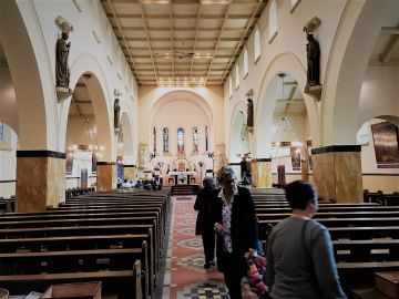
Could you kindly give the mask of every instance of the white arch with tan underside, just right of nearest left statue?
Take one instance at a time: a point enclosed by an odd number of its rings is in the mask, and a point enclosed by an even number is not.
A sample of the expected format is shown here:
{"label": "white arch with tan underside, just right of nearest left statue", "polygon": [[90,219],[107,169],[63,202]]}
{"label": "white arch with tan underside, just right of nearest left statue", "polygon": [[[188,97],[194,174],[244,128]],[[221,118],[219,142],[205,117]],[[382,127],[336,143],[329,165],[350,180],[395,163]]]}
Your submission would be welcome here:
{"label": "white arch with tan underside, just right of nearest left statue", "polygon": [[[104,145],[102,161],[112,162],[116,156],[116,148],[113,146],[115,135],[113,134],[112,128],[113,122],[110,117],[112,114],[112,109],[110,101],[106,100],[111,99],[111,96],[109,96],[110,93],[104,72],[102,71],[99,62],[89,53],[81,53],[78,55],[71,65],[70,86],[73,86],[73,89],[75,87],[80,76],[83,74],[92,75],[90,79],[88,79],[86,84],[98,127],[98,142],[99,144]],[[66,125],[70,105],[71,97],[61,104],[59,134],[60,148],[65,148]]]}

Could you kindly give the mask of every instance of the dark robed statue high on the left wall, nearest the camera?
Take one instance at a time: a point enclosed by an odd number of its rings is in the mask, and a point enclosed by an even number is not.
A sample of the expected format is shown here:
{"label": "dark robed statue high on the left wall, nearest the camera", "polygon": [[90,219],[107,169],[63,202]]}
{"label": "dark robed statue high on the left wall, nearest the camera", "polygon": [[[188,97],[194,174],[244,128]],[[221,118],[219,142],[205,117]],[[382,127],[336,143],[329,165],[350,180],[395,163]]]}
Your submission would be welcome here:
{"label": "dark robed statue high on the left wall, nearest the camera", "polygon": [[70,70],[68,66],[68,55],[71,48],[71,42],[66,43],[69,34],[62,31],[61,38],[57,40],[57,61],[55,61],[55,86],[69,89]]}

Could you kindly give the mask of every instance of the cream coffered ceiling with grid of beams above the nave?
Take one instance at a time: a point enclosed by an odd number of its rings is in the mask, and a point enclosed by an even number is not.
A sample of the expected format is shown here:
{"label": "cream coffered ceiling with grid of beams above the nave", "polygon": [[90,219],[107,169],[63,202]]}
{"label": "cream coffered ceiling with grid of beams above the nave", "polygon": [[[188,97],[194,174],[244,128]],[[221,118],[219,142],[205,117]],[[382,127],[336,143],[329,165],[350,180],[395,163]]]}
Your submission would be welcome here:
{"label": "cream coffered ceiling with grid of beams above the nave", "polygon": [[101,0],[139,85],[226,81],[267,0]]}

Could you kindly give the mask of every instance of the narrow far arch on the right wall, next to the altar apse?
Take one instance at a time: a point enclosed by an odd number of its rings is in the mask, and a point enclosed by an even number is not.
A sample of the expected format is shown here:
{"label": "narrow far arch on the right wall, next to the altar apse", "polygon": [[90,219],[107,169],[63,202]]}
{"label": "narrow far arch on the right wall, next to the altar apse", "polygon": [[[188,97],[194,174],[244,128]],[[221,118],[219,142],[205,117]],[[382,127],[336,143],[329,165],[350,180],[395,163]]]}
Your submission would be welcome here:
{"label": "narrow far arch on the right wall, next to the altar apse", "polygon": [[[239,162],[241,159],[237,158],[234,152],[236,146],[239,145],[241,137],[242,137],[242,128],[243,124],[246,126],[246,118],[247,118],[247,107],[244,101],[238,101],[234,106],[233,114],[232,114],[231,123],[229,123],[229,132],[228,132],[228,161],[231,163]],[[250,152],[250,140],[248,142],[248,152]]]}

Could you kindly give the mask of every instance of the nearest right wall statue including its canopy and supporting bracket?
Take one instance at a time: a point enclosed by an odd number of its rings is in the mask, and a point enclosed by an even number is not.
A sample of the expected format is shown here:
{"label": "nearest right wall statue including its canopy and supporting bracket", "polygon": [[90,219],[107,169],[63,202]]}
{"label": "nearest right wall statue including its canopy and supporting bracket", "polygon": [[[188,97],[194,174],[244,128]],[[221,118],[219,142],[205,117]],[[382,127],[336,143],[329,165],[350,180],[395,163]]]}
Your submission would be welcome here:
{"label": "nearest right wall statue including its canopy and supporting bracket", "polygon": [[305,93],[320,100],[321,84],[320,84],[320,45],[314,37],[314,30],[320,24],[320,19],[313,18],[304,27],[306,32],[306,56],[307,56],[307,82]]}

